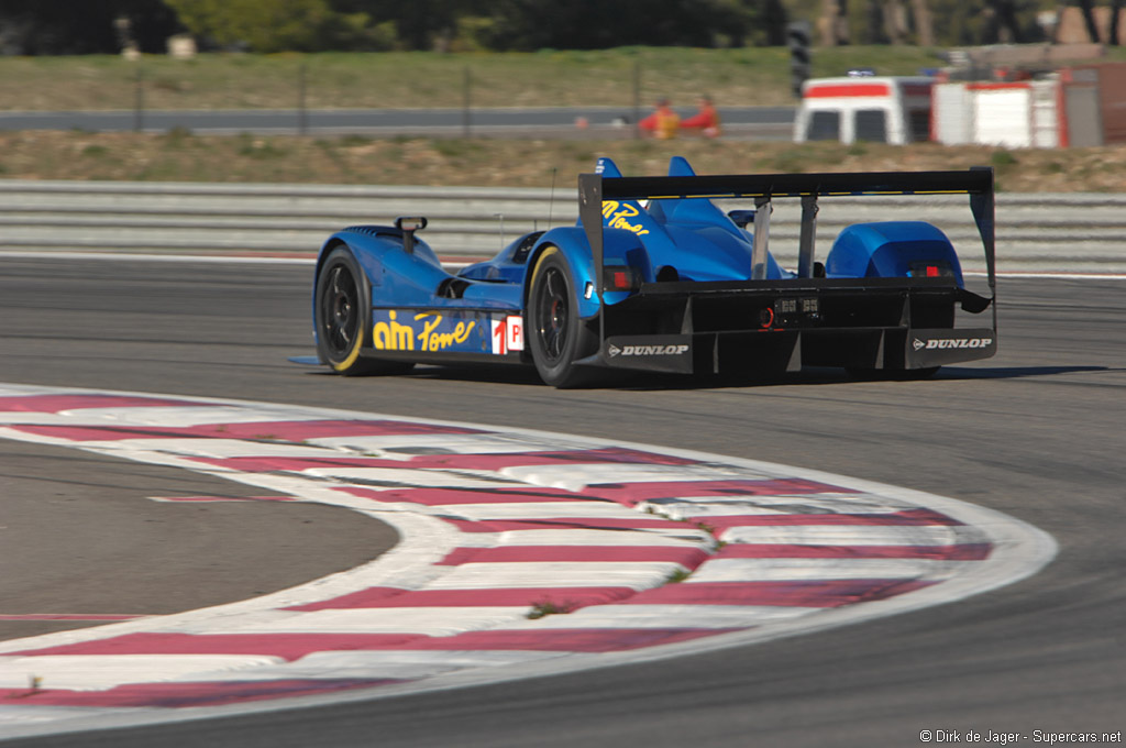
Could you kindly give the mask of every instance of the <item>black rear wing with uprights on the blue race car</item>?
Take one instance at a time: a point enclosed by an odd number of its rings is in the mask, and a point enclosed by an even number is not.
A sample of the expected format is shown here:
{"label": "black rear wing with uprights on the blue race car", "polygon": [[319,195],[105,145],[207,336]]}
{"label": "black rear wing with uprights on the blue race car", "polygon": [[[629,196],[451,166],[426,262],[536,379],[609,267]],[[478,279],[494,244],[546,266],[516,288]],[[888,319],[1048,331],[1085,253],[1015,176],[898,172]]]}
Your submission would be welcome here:
{"label": "black rear wing with uprights on the blue race car", "polygon": [[[966,171],[864,171],[855,173],[729,175],[705,177],[604,177],[579,175],[579,217],[590,242],[595,283],[602,296],[602,202],[607,199],[753,198],[754,242],[752,279],[765,279],[770,234],[770,203],[776,197],[802,201],[798,238],[798,277],[813,275],[817,201],[822,197],[858,195],[968,195],[977,233],[985,249],[990,296],[995,300],[993,169]],[[997,306],[993,305],[997,327]]]}

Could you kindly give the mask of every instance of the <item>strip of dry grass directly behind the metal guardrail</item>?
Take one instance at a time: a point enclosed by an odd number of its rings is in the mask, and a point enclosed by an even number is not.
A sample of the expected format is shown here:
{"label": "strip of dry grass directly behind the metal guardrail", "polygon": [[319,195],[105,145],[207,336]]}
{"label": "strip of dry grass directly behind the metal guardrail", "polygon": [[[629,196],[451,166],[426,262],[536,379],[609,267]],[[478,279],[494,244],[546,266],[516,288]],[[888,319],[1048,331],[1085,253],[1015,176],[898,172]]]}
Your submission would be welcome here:
{"label": "strip of dry grass directly behind the metal guardrail", "polygon": [[699,173],[963,169],[993,166],[1009,192],[1124,192],[1126,146],[990,146],[704,141],[215,136],[172,132],[0,133],[0,178],[383,185],[573,186],[599,155],[660,175],[683,155]]}

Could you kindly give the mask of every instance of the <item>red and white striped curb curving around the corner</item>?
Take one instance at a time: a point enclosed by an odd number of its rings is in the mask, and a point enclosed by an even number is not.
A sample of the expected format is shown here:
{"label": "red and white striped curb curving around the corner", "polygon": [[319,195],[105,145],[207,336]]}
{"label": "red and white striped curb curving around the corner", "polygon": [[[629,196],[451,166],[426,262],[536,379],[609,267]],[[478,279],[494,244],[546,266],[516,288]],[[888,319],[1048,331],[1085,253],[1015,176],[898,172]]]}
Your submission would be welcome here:
{"label": "red and white striped curb curving around the corner", "polygon": [[0,738],[765,641],[982,593],[1055,553],[954,499],[522,429],[0,384],[0,438],[208,473],[401,535],[271,595],[0,643]]}

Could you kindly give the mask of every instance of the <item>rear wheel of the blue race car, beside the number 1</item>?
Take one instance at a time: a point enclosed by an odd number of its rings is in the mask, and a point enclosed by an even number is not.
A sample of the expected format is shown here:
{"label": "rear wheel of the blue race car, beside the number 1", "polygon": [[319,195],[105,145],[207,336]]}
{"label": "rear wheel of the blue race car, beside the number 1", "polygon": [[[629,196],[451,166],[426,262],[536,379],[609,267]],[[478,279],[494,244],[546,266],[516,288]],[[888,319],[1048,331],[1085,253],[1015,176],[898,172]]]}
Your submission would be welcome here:
{"label": "rear wheel of the blue race car, beside the number 1", "polygon": [[536,261],[528,294],[528,345],[539,377],[555,388],[577,388],[598,379],[598,372],[574,362],[593,353],[593,341],[579,318],[571,267],[563,253],[548,247]]}

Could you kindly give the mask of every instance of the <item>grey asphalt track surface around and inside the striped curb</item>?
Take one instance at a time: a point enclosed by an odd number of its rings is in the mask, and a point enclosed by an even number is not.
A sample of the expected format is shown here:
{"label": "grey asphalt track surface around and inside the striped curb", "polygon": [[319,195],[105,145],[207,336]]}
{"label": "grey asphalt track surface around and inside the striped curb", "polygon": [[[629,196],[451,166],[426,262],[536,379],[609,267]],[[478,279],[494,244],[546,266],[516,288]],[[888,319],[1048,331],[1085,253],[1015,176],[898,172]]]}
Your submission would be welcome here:
{"label": "grey asphalt track surface around and inside the striped curb", "polygon": [[[521,371],[341,379],[287,363],[311,349],[307,265],[0,258],[0,268],[2,382],[355,408],[701,449],[964,499],[1060,544],[1052,564],[1016,585],[752,647],[5,745],[859,747],[921,745],[923,730],[976,730],[982,742],[989,731],[1011,731],[1024,736],[1018,745],[1047,745],[1034,731],[1126,730],[1126,282],[1002,278],[998,357],[926,382],[854,382],[826,369],[753,386],[662,380],[561,392]],[[63,598],[87,606],[77,612],[111,613],[238,599],[378,551],[372,528],[331,509],[224,504],[206,505],[216,514],[204,517],[199,507],[144,499],[239,490],[204,477],[6,442],[0,455],[3,613]],[[98,542],[79,558],[68,533]],[[0,633],[34,633],[16,625]]]}

